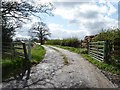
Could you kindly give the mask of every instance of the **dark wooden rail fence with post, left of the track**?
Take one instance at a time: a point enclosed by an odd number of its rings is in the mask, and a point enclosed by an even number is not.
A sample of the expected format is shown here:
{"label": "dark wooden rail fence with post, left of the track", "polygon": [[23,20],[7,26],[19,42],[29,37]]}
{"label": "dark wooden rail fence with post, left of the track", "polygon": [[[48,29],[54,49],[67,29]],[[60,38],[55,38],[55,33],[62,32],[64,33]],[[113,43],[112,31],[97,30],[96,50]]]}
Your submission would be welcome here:
{"label": "dark wooden rail fence with post, left of the track", "polygon": [[11,60],[15,57],[28,60],[28,44],[24,42],[13,42],[9,44],[8,42],[2,42],[2,56],[11,57]]}

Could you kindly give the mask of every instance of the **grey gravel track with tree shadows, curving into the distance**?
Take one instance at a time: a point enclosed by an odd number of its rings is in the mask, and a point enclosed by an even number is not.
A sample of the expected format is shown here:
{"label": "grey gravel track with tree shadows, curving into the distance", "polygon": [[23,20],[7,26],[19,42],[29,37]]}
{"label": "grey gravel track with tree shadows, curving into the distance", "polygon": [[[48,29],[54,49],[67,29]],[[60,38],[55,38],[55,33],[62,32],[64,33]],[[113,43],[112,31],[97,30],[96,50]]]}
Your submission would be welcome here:
{"label": "grey gravel track with tree shadows, curving into the distance", "polygon": [[[58,47],[43,47],[45,57],[31,68],[30,78],[3,82],[3,88],[115,88],[99,69],[80,55]],[[64,65],[61,53],[67,57],[68,65]]]}

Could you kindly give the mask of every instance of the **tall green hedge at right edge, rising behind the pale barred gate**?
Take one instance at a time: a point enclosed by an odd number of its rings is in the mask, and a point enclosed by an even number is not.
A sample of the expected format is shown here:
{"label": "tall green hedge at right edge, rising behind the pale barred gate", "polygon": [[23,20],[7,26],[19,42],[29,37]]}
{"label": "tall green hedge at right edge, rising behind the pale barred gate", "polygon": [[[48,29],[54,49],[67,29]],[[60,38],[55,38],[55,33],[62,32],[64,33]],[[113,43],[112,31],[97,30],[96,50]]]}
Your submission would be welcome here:
{"label": "tall green hedge at right edge, rising behind the pale barred gate", "polygon": [[[93,41],[110,41],[110,64],[120,67],[120,29],[108,29],[99,33]],[[117,51],[117,53],[115,53]]]}

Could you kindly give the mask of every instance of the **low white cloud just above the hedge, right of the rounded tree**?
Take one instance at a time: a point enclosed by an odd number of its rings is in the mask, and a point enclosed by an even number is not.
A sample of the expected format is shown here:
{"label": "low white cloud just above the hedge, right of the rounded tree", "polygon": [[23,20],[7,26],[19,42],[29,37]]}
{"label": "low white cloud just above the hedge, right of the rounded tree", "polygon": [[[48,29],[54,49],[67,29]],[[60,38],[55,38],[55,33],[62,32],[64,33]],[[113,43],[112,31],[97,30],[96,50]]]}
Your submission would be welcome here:
{"label": "low white cloud just above the hedge, right of the rounded tree", "polygon": [[55,23],[49,24],[48,27],[50,28],[50,32],[52,33],[52,39],[62,39],[70,37],[83,39],[85,35],[89,35],[89,32],[85,30],[68,30],[64,29],[64,26]]}

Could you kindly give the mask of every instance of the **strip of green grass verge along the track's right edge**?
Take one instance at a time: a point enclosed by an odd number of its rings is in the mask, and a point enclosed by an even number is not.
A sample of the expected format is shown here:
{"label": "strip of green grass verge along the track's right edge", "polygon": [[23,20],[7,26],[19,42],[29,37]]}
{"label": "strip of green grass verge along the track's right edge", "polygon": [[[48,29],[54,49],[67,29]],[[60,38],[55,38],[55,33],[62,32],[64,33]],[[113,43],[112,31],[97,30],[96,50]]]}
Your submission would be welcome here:
{"label": "strip of green grass verge along the track's right edge", "polygon": [[58,45],[57,45],[57,47],[67,49],[69,51],[80,54],[83,58],[85,58],[86,60],[88,60],[90,63],[94,64],[95,66],[97,66],[101,70],[120,75],[120,69],[118,67],[115,67],[113,65],[109,65],[109,64],[106,64],[104,62],[100,62],[98,60],[91,58],[88,54],[86,54],[87,53],[86,49],[72,48],[72,47],[58,46]]}

